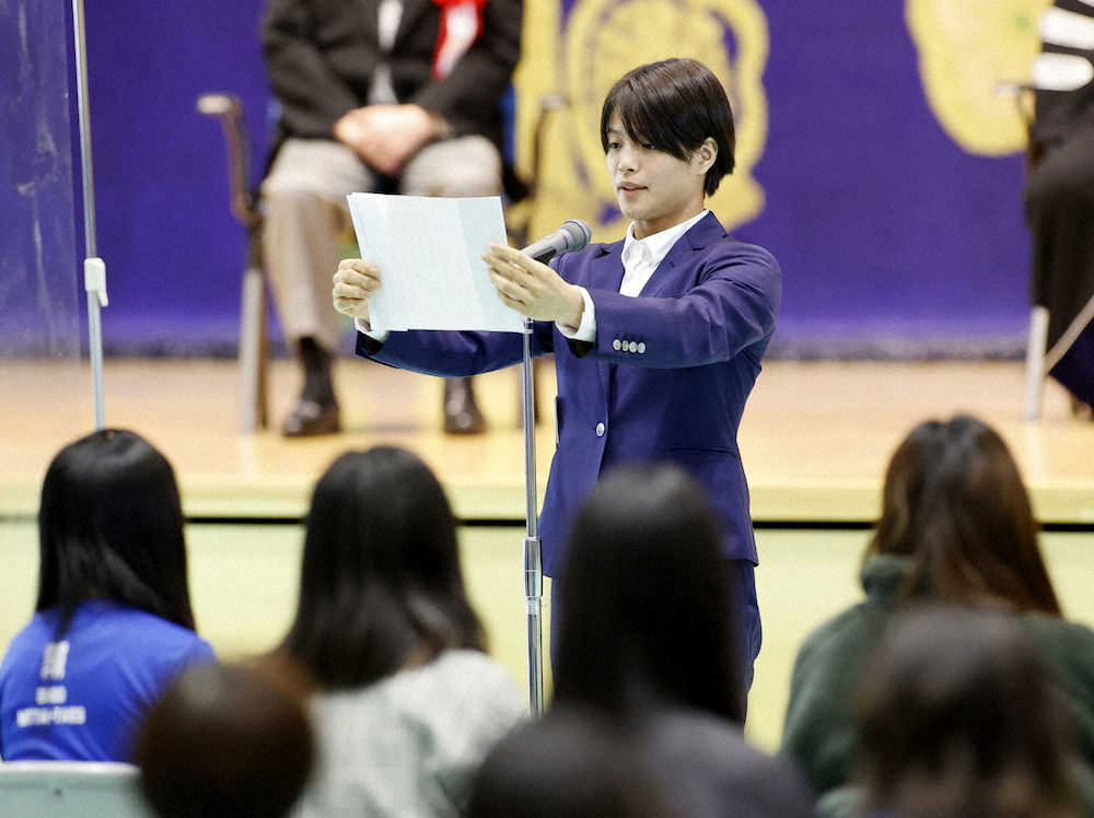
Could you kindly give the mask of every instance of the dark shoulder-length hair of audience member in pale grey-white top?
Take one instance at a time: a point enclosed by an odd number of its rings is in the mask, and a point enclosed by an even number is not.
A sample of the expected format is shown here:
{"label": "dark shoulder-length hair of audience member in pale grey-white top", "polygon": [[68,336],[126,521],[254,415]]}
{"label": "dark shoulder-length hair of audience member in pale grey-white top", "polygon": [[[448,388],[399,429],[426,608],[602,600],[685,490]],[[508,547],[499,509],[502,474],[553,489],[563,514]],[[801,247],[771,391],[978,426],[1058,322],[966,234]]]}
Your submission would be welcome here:
{"label": "dark shoulder-length hair of audience member in pale grey-white top", "polygon": [[322,687],[338,689],[482,643],[455,518],[429,467],[391,446],[335,460],[312,495],[300,599],[282,647]]}

